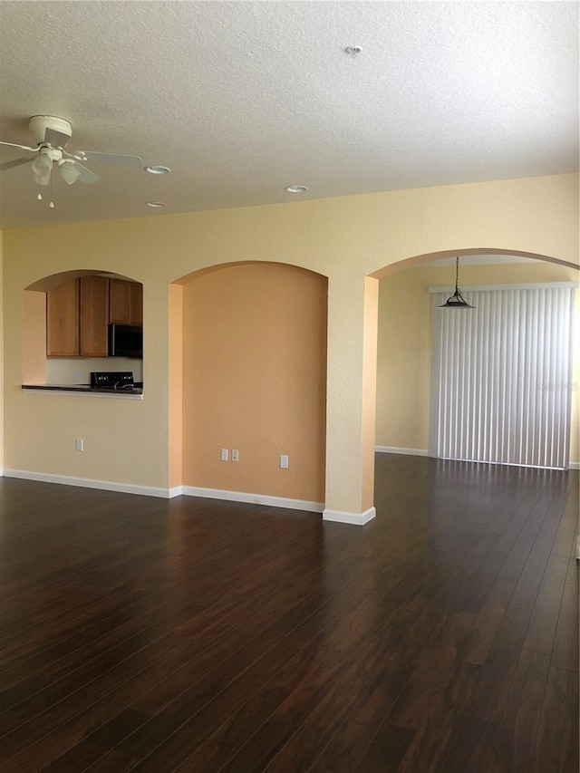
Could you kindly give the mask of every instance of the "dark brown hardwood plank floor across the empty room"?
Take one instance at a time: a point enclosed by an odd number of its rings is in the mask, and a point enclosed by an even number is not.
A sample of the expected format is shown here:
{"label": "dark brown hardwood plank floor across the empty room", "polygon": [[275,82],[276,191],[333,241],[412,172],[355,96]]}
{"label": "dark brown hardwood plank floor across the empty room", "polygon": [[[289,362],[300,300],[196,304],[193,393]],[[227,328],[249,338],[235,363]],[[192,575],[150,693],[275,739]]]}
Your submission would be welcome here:
{"label": "dark brown hardwood plank floor across the empty room", "polygon": [[576,773],[578,473],[376,488],[360,528],[0,479],[0,770]]}

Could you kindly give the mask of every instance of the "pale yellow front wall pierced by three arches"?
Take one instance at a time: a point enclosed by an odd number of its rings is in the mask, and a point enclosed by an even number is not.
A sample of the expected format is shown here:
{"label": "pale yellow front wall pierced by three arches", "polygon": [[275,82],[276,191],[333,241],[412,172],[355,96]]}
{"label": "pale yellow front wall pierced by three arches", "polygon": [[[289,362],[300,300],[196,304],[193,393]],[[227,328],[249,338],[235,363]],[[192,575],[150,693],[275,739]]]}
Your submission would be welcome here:
{"label": "pale yellow front wall pierced by three arches", "polygon": [[[360,513],[369,486],[362,454],[364,277],[411,256],[469,249],[577,265],[577,176],[7,231],[5,469],[167,488],[169,285],[207,266],[285,263],[329,280],[325,504]],[[23,290],[80,268],[143,284],[143,401],[21,391]],[[84,453],[74,451],[76,437],[85,439]]]}

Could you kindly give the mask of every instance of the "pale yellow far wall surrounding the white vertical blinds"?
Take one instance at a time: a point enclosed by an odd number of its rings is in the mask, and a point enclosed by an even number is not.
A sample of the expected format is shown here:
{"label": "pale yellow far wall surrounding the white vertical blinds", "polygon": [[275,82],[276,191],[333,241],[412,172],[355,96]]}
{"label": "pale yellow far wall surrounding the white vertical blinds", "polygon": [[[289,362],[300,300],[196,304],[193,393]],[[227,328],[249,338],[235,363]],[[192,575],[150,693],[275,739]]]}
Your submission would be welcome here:
{"label": "pale yellow far wall surrounding the white vertical blinds", "polygon": [[[552,263],[460,266],[460,285],[508,285],[578,281],[573,268]],[[428,448],[430,391],[430,286],[452,286],[455,266],[406,268],[380,282],[376,444]],[[580,302],[576,291],[576,305]],[[576,324],[580,314],[576,314]],[[575,379],[579,382],[580,337],[576,336]],[[571,461],[580,461],[580,391],[573,393]]]}

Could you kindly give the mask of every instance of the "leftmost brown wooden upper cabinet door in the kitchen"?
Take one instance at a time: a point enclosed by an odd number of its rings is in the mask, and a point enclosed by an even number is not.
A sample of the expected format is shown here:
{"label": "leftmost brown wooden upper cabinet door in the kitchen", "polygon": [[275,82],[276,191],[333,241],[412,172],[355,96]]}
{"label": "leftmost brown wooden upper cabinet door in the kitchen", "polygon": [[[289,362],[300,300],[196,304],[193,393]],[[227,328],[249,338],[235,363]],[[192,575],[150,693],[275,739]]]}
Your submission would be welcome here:
{"label": "leftmost brown wooden upper cabinet door in the kitchen", "polygon": [[79,356],[79,280],[70,279],[46,294],[46,355]]}

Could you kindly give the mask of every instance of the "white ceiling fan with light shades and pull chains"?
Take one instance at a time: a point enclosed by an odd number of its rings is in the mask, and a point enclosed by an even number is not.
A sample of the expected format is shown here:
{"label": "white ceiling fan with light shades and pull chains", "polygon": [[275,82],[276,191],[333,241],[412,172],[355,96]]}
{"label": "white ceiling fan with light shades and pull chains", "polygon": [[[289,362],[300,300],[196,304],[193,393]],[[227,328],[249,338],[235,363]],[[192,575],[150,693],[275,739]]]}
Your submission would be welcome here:
{"label": "white ceiling fan with light shades and pull chains", "polygon": [[[135,169],[143,167],[143,161],[139,156],[120,156],[116,153],[97,153],[89,150],[69,153],[64,150],[73,136],[73,128],[71,123],[63,118],[56,118],[53,115],[34,115],[30,119],[28,128],[36,142],[35,148],[16,142],[0,141],[0,145],[26,150],[34,155],[6,161],[0,164],[0,171],[14,169],[23,164],[32,164],[34,181],[39,185],[48,185],[53,167],[56,167],[67,185],[73,185],[77,180],[84,185],[92,185],[99,182],[101,178],[91,169],[83,166],[81,161],[103,162]],[[40,192],[38,198],[42,198]],[[52,202],[51,206],[53,206]]]}

